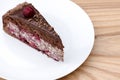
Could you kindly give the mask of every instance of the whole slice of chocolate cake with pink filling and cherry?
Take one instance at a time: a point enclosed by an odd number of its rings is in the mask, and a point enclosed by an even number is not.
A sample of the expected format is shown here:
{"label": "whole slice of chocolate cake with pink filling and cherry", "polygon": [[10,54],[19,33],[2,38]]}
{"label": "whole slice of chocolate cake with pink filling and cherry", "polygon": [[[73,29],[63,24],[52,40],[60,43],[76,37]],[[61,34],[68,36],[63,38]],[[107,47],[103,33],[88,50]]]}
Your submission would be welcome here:
{"label": "whole slice of chocolate cake with pink filling and cherry", "polygon": [[54,60],[63,61],[59,35],[32,4],[24,2],[3,15],[3,29]]}

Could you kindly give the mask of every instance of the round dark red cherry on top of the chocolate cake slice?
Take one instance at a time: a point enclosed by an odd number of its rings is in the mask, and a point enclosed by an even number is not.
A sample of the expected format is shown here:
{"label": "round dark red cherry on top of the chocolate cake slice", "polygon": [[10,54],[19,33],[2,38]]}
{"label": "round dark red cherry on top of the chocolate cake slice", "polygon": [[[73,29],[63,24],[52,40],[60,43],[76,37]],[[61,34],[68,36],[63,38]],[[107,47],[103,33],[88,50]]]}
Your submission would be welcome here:
{"label": "round dark red cherry on top of the chocolate cake slice", "polygon": [[26,6],[23,8],[23,15],[26,18],[31,18],[35,15],[35,11],[33,10],[31,6]]}

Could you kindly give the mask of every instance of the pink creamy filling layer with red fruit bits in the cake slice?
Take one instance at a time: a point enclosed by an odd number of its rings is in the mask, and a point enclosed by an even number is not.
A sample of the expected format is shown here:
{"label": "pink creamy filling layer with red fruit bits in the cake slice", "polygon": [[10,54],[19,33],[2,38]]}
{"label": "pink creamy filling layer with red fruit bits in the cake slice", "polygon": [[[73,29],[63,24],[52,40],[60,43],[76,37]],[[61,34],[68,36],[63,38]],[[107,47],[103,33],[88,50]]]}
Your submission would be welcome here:
{"label": "pink creamy filling layer with red fruit bits in the cake slice", "polygon": [[31,47],[39,51],[42,51],[43,53],[57,61],[63,61],[63,51],[58,49],[57,47],[52,47],[51,44],[47,43],[39,36],[28,33],[26,30],[19,29],[18,26],[12,22],[8,22],[6,29],[9,34],[21,40],[22,42],[30,45]]}

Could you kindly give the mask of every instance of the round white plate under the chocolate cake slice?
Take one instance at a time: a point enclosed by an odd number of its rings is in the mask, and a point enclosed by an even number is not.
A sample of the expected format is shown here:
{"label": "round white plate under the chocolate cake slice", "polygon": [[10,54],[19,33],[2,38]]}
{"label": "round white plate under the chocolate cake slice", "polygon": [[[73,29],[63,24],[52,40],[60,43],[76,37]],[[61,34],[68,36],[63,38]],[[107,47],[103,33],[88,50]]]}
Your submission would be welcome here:
{"label": "round white plate under the chocolate cake slice", "polygon": [[[88,15],[69,0],[27,0],[45,16],[60,35],[64,62],[56,62],[26,44],[8,36],[0,19],[0,76],[8,80],[53,80],[78,68],[94,43],[94,29]],[[24,0],[3,0],[0,17]]]}

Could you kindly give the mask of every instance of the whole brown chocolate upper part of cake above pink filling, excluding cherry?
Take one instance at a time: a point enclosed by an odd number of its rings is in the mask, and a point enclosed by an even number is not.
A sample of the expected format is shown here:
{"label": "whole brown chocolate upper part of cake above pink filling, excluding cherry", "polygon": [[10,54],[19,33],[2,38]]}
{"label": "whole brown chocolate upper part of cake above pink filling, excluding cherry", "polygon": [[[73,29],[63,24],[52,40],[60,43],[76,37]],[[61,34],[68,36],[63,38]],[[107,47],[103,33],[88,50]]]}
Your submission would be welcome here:
{"label": "whole brown chocolate upper part of cake above pink filling, excluding cherry", "polygon": [[[32,17],[25,17],[23,14],[23,9],[26,6],[32,7],[34,10],[34,15]],[[12,19],[21,20],[21,24],[28,24],[32,30],[36,30],[39,35],[42,35],[44,40],[51,43],[54,47],[58,47],[63,50],[64,46],[58,34],[55,32],[54,28],[45,20],[45,18],[33,7],[32,4],[24,2],[19,4],[14,9],[8,11],[3,17],[10,17]],[[19,22],[20,23],[20,22]],[[45,33],[45,34],[41,34]],[[50,37],[49,37],[50,36]],[[47,37],[47,38],[46,38]],[[49,40],[49,39],[51,40]]]}

